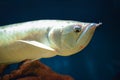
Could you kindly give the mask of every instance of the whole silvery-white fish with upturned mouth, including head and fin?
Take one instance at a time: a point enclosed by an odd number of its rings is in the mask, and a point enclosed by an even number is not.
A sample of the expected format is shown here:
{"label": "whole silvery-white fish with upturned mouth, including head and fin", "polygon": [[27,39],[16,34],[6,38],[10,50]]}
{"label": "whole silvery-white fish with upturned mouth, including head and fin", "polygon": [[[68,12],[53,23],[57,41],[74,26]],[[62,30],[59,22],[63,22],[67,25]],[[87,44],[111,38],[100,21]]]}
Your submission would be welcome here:
{"label": "whole silvery-white fish with upturned mouth, including head and fin", "polygon": [[0,27],[0,64],[69,56],[81,51],[100,24],[38,20]]}

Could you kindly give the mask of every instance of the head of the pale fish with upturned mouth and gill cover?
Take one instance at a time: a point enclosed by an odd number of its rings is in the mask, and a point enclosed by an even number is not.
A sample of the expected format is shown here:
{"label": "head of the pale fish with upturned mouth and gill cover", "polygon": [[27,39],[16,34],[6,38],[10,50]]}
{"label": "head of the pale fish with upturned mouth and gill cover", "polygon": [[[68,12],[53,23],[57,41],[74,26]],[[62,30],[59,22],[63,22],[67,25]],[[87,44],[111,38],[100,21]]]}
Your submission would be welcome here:
{"label": "head of the pale fish with upturned mouth and gill cover", "polygon": [[57,34],[59,35],[56,36],[56,39],[53,38],[57,45],[58,55],[69,56],[84,49],[90,42],[96,27],[99,25],[101,23],[78,22],[63,26],[58,31]]}

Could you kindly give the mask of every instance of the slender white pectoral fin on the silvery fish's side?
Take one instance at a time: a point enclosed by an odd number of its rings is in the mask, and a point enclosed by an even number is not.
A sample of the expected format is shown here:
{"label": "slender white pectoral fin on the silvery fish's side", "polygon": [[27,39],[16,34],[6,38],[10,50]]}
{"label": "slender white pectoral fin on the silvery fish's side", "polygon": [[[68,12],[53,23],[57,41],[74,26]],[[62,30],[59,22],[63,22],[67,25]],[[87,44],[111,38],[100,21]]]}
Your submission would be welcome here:
{"label": "slender white pectoral fin on the silvery fish's side", "polygon": [[23,42],[25,44],[33,45],[35,47],[39,47],[39,48],[44,49],[44,50],[55,51],[53,48],[46,46],[46,45],[44,45],[40,42],[37,42],[37,41],[26,41],[26,40],[18,40],[18,41]]}

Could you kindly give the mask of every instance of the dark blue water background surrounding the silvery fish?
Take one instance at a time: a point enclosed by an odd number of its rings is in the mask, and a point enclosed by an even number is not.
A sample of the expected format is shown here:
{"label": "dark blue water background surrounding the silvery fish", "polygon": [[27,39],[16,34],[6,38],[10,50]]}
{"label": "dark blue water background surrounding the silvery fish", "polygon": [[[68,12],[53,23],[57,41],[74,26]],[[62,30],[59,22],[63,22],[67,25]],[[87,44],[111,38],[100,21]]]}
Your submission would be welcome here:
{"label": "dark blue water background surrounding the silvery fish", "polygon": [[[0,0],[0,25],[38,19],[103,23],[79,54],[41,60],[75,80],[112,80],[120,76],[119,16],[120,0]],[[11,65],[6,73],[17,66]]]}

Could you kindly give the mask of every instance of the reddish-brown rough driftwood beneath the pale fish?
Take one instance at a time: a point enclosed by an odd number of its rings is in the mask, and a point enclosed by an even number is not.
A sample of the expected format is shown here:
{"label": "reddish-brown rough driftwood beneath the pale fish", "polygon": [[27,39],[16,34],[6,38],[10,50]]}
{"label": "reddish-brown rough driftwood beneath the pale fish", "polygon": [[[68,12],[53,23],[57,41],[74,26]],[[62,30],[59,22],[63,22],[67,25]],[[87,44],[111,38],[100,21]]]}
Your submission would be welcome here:
{"label": "reddish-brown rough driftwood beneath the pale fish", "polygon": [[[6,66],[0,67],[1,72]],[[39,60],[30,62],[26,60],[19,69],[0,77],[0,80],[73,80],[68,75],[60,75],[52,71],[48,66]]]}

